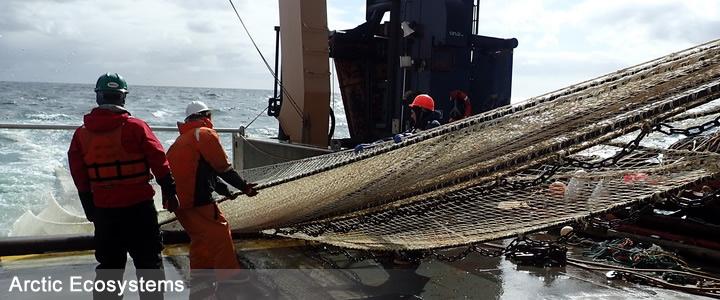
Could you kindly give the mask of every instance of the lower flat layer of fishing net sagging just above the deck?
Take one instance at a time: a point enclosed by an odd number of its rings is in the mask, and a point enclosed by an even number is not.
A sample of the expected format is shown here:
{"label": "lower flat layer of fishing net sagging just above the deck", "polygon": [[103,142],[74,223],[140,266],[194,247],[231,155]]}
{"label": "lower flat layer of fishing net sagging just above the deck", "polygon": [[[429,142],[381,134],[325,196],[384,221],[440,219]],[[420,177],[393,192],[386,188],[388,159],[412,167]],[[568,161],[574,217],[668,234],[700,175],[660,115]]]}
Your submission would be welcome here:
{"label": "lower flat layer of fishing net sagging just above the deck", "polygon": [[[563,168],[551,183],[517,188],[475,186],[438,191],[422,200],[387,204],[352,217],[301,224],[294,237],[359,249],[427,249],[513,237],[609,211],[712,178],[720,155],[636,151],[611,168]],[[532,181],[548,166],[510,176]],[[332,224],[328,229],[327,225]],[[351,229],[351,230],[348,230]],[[322,234],[318,234],[322,233]]]}

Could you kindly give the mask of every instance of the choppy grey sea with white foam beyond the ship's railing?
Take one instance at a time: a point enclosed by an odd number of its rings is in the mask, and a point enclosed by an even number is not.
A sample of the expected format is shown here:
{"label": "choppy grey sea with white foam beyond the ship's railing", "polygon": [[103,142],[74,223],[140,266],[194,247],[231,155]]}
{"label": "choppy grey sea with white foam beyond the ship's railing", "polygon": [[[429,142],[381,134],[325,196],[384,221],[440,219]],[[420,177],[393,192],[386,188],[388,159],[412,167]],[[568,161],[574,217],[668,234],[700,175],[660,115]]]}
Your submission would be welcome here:
{"label": "choppy grey sea with white foam beyond the ship's railing", "polygon": [[[0,82],[0,123],[80,125],[96,106],[93,84]],[[130,86],[126,108],[150,126],[176,126],[185,106],[202,100],[214,110],[218,128],[239,128],[265,106],[272,91],[188,87]],[[334,95],[335,137],[347,137],[347,123],[339,95]],[[247,130],[250,137],[272,138],[277,121],[263,113]],[[176,132],[156,132],[167,148]],[[231,137],[221,134],[230,153]],[[47,197],[55,197],[72,212],[80,213],[74,186],[67,180],[67,149],[71,130],[0,129],[0,237],[26,210],[38,212]]]}

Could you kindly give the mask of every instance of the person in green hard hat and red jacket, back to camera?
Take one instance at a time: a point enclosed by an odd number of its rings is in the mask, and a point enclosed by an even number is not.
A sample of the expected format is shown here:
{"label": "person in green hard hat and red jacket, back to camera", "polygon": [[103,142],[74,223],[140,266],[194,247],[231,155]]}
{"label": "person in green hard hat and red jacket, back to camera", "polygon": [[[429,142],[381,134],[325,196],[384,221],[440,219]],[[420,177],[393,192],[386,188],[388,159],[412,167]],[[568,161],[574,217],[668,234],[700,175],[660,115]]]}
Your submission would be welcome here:
{"label": "person in green hard hat and red jacket, back to camera", "polygon": [[[99,106],[75,130],[68,161],[85,216],[95,225],[96,279],[122,280],[128,253],[138,278],[164,279],[155,191],[149,181],[152,171],[165,206],[177,207],[165,152],[150,127],[125,109],[127,83],[120,75],[100,76],[95,93]],[[95,296],[106,299],[117,293]],[[162,297],[141,294],[143,299]]]}

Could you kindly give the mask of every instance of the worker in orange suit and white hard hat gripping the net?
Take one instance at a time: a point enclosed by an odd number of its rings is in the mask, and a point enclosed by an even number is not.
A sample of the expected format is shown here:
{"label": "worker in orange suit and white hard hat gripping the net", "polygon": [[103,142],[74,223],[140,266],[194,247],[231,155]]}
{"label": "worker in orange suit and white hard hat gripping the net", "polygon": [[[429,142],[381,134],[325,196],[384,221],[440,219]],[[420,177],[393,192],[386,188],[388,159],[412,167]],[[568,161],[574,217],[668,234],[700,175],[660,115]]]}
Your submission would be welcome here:
{"label": "worker in orange suit and white hard hat gripping the net", "polygon": [[185,112],[185,122],[178,123],[180,136],[170,146],[167,158],[180,203],[175,215],[190,236],[190,268],[238,269],[228,222],[212,193],[233,198],[218,177],[248,197],[257,195],[256,184],[245,182],[232,168],[213,130],[207,105],[193,101]]}

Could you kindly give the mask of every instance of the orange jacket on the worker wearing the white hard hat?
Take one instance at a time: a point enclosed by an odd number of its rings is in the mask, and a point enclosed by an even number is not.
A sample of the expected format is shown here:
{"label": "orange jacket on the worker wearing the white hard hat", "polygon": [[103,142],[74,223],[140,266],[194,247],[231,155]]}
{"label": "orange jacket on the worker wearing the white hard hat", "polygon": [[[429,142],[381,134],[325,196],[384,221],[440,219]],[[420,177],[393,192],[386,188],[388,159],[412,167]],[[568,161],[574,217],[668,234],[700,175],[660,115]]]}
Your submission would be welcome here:
{"label": "orange jacket on the worker wearing the white hard hat", "polygon": [[[175,177],[180,208],[212,203],[212,192],[217,185],[223,184],[218,181],[218,176],[237,174],[220,144],[220,137],[212,129],[210,119],[178,123],[178,128],[180,136],[170,146],[167,158]],[[245,188],[241,179],[229,183],[238,189]]]}

